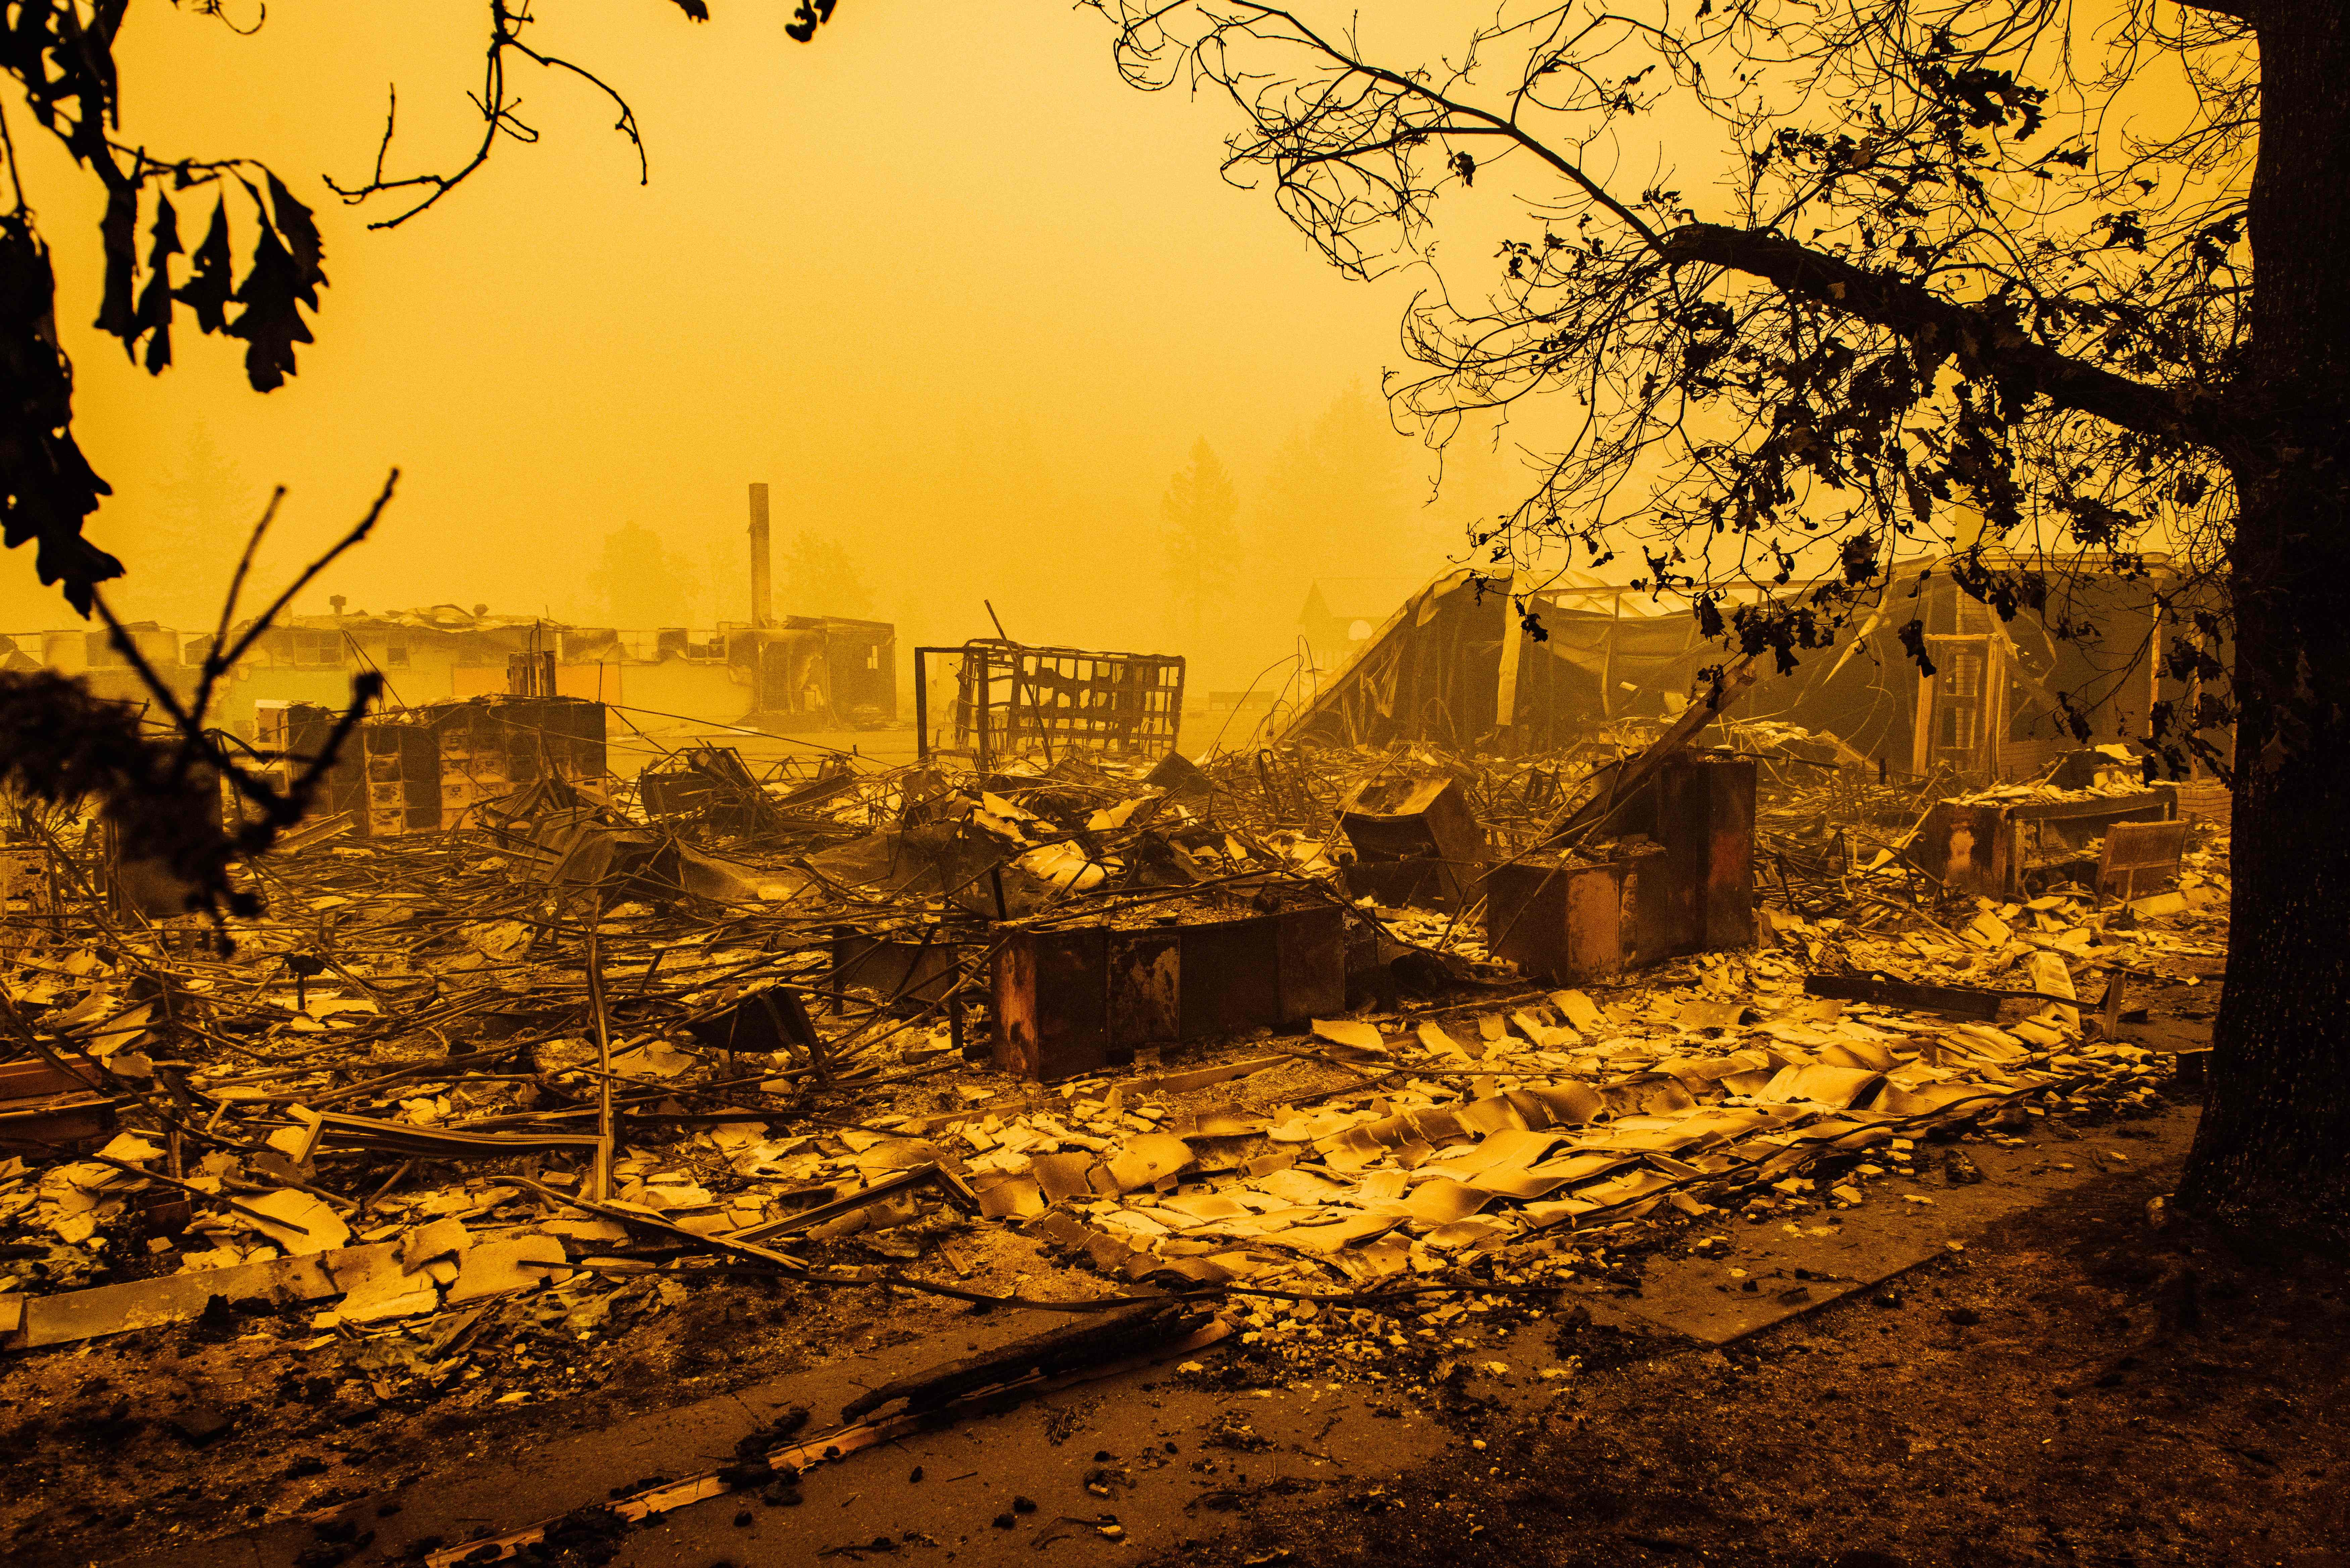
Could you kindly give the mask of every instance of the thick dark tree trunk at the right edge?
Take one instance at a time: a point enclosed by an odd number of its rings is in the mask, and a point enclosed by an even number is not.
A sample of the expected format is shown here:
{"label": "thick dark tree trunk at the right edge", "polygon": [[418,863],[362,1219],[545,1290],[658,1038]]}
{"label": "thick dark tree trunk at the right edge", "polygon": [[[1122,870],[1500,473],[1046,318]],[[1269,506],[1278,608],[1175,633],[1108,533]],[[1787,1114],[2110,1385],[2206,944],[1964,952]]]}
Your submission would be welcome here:
{"label": "thick dark tree trunk at the right edge", "polygon": [[2181,1204],[2350,1234],[2350,14],[2261,0],[2256,294],[2230,395],[2235,900]]}

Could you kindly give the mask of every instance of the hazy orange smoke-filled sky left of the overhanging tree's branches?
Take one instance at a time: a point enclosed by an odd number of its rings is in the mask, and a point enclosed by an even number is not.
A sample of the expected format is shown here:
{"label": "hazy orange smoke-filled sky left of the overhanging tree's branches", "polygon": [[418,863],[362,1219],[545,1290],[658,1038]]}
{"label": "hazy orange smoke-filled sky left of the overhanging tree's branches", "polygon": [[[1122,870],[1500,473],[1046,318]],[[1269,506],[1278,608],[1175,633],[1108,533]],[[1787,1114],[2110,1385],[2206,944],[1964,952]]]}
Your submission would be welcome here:
{"label": "hazy orange smoke-filled sky left of the overhanging tree's branches", "polygon": [[[442,205],[371,233],[392,209],[348,209],[322,176],[367,174],[392,85],[388,169],[463,162],[482,7],[275,5],[249,38],[134,7],[122,139],[261,158],[317,209],[317,343],[270,395],[235,343],[183,331],[150,378],[89,329],[94,181],[16,115],[80,437],[115,487],[89,531],[132,567],[122,614],[207,623],[273,484],[282,581],[392,465],[376,538],[296,609],[611,623],[630,595],[604,545],[637,527],[674,569],[663,621],[738,621],[750,480],[773,487],[778,555],[837,545],[900,646],[987,635],[994,599],[1029,642],[1189,639],[1170,651],[1201,658],[1236,637],[1238,665],[1288,644],[1311,576],[1426,576],[1459,550],[1473,508],[1459,487],[1426,505],[1429,458],[1403,435],[1384,461],[1415,482],[1377,550],[1283,541],[1269,465],[1349,388],[1358,416],[1377,409],[1412,284],[1347,282],[1224,183],[1229,106],[1126,87],[1095,14],[844,0],[797,45],[776,0],[721,0],[710,24],[665,0],[538,9],[536,47],[627,96],[651,181],[592,87],[517,66],[538,143],[503,141]],[[181,197],[181,230],[209,207]],[[1161,496],[1198,440],[1234,477],[1248,571],[1220,592],[1229,616],[1177,625]],[[9,567],[9,625],[70,623],[28,559]],[[780,576],[778,611],[858,607],[790,602]]]}

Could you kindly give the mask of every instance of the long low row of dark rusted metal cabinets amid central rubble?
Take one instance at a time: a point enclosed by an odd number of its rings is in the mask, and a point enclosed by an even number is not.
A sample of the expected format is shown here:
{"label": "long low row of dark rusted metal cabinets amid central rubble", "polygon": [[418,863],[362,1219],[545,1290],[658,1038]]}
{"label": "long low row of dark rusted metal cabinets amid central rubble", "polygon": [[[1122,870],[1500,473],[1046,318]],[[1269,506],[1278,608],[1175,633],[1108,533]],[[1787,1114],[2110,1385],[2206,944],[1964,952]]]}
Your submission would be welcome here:
{"label": "long low row of dark rusted metal cabinets amid central rubble", "polygon": [[1347,1006],[1347,914],[1008,931],[992,969],[996,1067],[1065,1079],[1135,1046],[1278,1030]]}

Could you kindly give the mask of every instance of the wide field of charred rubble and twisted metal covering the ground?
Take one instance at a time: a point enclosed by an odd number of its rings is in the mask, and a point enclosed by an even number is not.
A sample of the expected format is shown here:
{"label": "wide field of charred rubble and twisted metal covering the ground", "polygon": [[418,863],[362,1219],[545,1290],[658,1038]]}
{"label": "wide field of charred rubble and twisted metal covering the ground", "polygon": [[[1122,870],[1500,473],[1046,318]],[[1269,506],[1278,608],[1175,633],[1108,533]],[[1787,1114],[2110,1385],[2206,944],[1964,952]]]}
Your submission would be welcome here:
{"label": "wide field of charred rubble and twisted metal covering the ground", "polygon": [[[1969,792],[1727,719],[985,776],[689,750],[310,823],[228,950],[82,839],[5,851],[0,1345],[261,1324],[383,1399],[745,1276],[1184,1298],[1377,1368],[1833,1220],[1929,1140],[2150,1112],[2127,985],[2223,952],[2228,877],[2117,757]],[[1048,1272],[1006,1286],[1001,1237]]]}

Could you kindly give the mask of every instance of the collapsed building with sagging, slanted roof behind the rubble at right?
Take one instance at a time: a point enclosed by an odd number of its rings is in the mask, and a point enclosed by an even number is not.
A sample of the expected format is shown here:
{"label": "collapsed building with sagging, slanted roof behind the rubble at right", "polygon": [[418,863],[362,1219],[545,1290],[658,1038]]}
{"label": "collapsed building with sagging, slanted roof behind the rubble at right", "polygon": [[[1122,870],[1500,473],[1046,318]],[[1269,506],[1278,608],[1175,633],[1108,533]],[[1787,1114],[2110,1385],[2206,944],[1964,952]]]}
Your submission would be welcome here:
{"label": "collapsed building with sagging, slanted roof behind the rubble at right", "polygon": [[[1765,672],[1741,717],[1835,736],[1889,771],[2030,778],[2059,755],[2146,733],[2155,703],[2193,705],[2150,649],[2178,628],[2162,597],[2181,578],[2153,557],[2138,578],[2063,574],[2047,609],[2012,621],[1969,597],[1943,562],[1906,562],[1878,607],[1788,675]],[[1511,599],[1539,621],[1537,637]],[[1934,663],[1920,675],[1911,621]],[[2052,628],[2073,625],[2061,637]],[[1431,743],[1544,752],[1622,717],[1671,717],[1723,663],[1687,609],[1589,574],[1537,581],[1450,571],[1410,595],[1307,698],[1278,741]],[[2087,724],[2075,738],[2070,703]]]}

